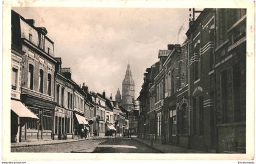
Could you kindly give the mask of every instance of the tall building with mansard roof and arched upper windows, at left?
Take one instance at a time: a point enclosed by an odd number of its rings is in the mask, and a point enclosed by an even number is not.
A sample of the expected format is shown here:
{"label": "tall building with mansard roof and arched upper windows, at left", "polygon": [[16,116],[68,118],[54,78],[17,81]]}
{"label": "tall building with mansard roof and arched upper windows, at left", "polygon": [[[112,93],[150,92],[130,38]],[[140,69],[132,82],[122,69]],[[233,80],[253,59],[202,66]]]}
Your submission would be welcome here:
{"label": "tall building with mansard roof and arched upper windows, at left", "polygon": [[24,52],[21,66],[21,100],[39,118],[30,119],[21,128],[21,140],[52,138],[55,109],[54,43],[44,27],[35,27],[12,10],[13,45]]}

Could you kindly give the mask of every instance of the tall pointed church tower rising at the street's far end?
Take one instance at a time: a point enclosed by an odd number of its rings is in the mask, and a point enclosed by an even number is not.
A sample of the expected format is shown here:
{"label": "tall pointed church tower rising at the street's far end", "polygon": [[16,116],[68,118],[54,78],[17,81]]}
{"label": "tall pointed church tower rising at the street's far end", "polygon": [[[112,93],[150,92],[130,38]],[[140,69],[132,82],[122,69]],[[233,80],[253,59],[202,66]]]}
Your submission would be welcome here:
{"label": "tall pointed church tower rising at the street's far end", "polygon": [[126,69],[126,75],[122,84],[122,106],[127,111],[132,111],[134,100],[134,81],[132,79],[132,71],[130,70],[130,64],[128,63]]}

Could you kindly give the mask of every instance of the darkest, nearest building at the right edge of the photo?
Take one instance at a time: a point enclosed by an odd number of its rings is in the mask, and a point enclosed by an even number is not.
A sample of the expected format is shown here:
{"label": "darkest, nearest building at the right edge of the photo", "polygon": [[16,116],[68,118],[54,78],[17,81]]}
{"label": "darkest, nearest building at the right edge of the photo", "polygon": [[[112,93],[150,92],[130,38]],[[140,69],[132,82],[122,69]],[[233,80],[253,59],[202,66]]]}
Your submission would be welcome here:
{"label": "darkest, nearest building at the right edge of the photo", "polygon": [[210,82],[215,85],[211,86],[210,99],[204,101],[204,108],[213,104],[215,108],[213,148],[217,152],[246,152],[246,9],[214,12],[214,60],[210,58],[214,63],[207,70]]}

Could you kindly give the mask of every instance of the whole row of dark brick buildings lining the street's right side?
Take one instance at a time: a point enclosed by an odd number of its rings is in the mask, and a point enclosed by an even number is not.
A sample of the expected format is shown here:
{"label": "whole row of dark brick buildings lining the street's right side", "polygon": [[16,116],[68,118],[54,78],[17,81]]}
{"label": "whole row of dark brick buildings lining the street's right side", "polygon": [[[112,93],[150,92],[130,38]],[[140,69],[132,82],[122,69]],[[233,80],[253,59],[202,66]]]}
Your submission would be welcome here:
{"label": "whole row of dark brick buildings lining the street's right side", "polygon": [[182,46],[159,51],[154,81],[152,67],[144,73],[138,131],[206,152],[246,152],[246,9],[204,9],[189,26]]}

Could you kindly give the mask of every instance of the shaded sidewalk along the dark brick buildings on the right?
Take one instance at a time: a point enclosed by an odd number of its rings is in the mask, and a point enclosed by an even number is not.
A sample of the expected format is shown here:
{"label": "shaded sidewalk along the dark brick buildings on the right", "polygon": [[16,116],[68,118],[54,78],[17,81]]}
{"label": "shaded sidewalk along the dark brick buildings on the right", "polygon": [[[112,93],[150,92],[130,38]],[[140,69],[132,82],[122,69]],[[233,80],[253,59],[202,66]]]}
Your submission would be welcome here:
{"label": "shaded sidewalk along the dark brick buildings on the right", "polygon": [[155,142],[153,143],[153,146],[151,146],[151,140],[143,140],[138,137],[132,137],[133,140],[136,140],[137,142],[143,143],[144,145],[147,145],[151,148],[156,149],[157,151],[160,151],[162,153],[206,153],[203,151],[197,151],[194,149],[187,149],[180,146],[173,146],[173,145],[166,145],[162,144],[161,142]]}

